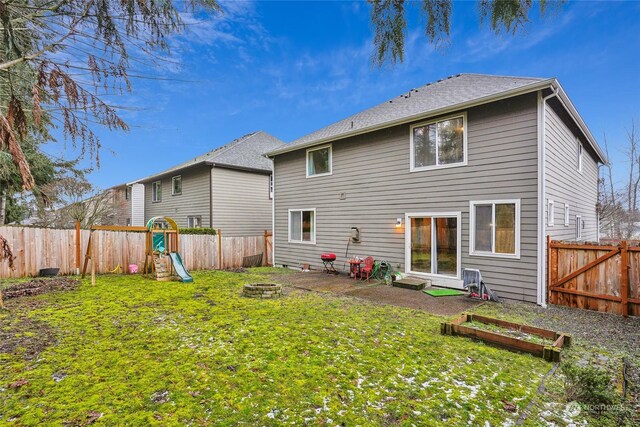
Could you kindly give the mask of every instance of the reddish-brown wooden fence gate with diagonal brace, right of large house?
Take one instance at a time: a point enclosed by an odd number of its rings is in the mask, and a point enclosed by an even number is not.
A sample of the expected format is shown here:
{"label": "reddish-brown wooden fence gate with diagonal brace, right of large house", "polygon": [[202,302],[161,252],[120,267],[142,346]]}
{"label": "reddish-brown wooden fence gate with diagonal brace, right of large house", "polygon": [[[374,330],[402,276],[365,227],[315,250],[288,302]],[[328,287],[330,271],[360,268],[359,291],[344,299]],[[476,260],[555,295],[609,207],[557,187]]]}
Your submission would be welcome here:
{"label": "reddish-brown wooden fence gate with diagonal brace, right of large house", "polygon": [[549,303],[640,315],[640,246],[547,238]]}

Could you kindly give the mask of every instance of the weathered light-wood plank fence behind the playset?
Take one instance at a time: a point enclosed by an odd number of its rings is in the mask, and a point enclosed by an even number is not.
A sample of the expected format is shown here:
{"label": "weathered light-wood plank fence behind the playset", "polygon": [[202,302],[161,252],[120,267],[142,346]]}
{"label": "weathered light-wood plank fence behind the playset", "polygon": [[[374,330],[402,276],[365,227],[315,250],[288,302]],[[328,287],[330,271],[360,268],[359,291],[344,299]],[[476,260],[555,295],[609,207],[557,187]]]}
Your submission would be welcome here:
{"label": "weathered light-wood plank fence behind the playset", "polygon": [[[0,279],[36,276],[41,268],[58,267],[60,274],[75,274],[82,268],[89,230],[80,231],[81,259],[76,261],[76,230],[33,227],[0,227],[15,255],[15,269],[0,262]],[[97,273],[126,272],[129,264],[144,265],[145,233],[93,231]],[[219,241],[219,239],[221,239]],[[264,253],[263,265],[272,265],[272,235],[230,237],[224,235],[180,235],[180,255],[188,270],[239,268],[246,256]],[[220,249],[222,249],[220,251]]]}

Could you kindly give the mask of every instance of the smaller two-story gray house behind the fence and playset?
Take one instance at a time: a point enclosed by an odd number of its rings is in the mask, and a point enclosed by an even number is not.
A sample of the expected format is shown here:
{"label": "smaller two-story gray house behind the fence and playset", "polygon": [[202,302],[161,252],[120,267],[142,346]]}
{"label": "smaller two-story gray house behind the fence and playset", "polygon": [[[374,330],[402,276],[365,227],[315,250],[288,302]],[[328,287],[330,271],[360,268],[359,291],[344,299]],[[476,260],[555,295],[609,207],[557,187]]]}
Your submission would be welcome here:
{"label": "smaller two-story gray house behind the fence and playset", "polygon": [[132,224],[170,216],[180,227],[219,228],[226,236],[271,230],[272,162],[263,153],[283,145],[264,131],[253,132],[129,183]]}

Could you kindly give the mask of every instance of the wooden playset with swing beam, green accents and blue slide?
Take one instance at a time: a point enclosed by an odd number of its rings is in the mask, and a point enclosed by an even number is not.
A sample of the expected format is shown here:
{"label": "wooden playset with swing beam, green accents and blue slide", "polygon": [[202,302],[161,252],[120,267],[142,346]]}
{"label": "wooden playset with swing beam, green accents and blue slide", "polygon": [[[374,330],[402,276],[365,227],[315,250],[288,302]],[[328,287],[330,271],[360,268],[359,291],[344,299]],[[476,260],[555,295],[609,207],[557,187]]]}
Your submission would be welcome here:
{"label": "wooden playset with swing beam, green accents and blue slide", "polygon": [[[160,224],[162,223],[167,224],[170,228],[161,228]],[[87,273],[87,266],[89,262],[91,262],[92,283],[95,283],[92,236],[96,230],[146,233],[143,274],[155,277],[158,281],[179,280],[185,283],[193,282],[193,277],[191,277],[185,268],[182,257],[180,257],[180,253],[178,252],[178,248],[180,247],[178,225],[172,218],[165,216],[151,218],[144,227],[116,225],[92,226],[87,243],[87,252],[84,257],[84,266],[82,268],[82,277],[84,278]]]}

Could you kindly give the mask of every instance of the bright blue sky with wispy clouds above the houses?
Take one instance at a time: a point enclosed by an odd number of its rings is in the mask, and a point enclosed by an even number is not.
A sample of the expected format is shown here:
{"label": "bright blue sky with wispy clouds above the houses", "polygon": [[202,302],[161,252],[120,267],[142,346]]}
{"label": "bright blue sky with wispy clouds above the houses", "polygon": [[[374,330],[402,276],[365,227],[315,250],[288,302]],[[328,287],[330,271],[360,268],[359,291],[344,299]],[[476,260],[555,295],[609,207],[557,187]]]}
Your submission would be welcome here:
{"label": "bright blue sky with wispy clouds above the houses", "polygon": [[[557,77],[594,136],[606,133],[622,168],[625,127],[640,124],[640,2],[571,2],[516,36],[496,36],[476,2],[456,2],[451,42],[434,49],[417,10],[403,64],[371,65],[365,2],[229,2],[220,17],[185,15],[171,62],[137,70],[128,133],[100,130],[106,188],[132,181],[255,130],[285,142],[458,73]],[[64,154],[63,144],[47,148]],[[68,153],[67,153],[68,157]]]}

